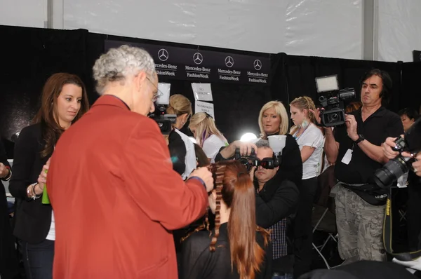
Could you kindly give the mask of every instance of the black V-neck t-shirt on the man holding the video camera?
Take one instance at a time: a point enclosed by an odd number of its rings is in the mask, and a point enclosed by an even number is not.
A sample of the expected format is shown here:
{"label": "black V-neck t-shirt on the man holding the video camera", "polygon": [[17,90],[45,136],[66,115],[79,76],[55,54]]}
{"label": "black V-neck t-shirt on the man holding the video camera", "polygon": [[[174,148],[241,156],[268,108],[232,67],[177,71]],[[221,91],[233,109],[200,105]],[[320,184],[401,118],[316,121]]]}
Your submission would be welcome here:
{"label": "black V-neck t-shirt on the man holding the video camera", "polygon": [[[361,109],[351,113],[355,116],[357,132],[365,137],[371,144],[378,147],[387,137],[399,137],[403,134],[401,118],[392,111],[380,107],[375,113],[363,121]],[[347,184],[373,184],[375,170],[382,168],[382,163],[372,160],[348,137],[346,125],[335,128],[335,140],[339,142],[339,153],[335,163],[335,177]],[[352,149],[352,159],[349,164],[342,163],[348,149]],[[368,189],[348,188],[358,194],[363,200],[372,205],[385,203],[386,189],[377,186]]]}

